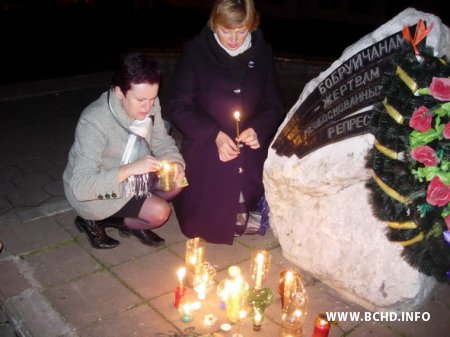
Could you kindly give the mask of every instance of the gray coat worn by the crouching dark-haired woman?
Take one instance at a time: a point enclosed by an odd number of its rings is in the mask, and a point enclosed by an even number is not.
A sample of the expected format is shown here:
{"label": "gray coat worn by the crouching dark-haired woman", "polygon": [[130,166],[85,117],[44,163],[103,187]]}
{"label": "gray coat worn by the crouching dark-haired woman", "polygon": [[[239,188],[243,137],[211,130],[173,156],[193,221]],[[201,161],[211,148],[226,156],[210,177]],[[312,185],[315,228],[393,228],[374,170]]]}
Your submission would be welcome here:
{"label": "gray coat worn by the crouching dark-haired woman", "polygon": [[[110,104],[121,124],[129,127],[134,120],[123,110],[113,90],[110,90]],[[150,115],[154,116],[154,122],[147,140],[152,155],[184,165],[175,141],[166,131],[158,99]],[[63,180],[67,200],[83,218],[107,218],[132,198],[125,195],[125,183],[118,183],[117,178],[128,135],[110,111],[108,92],[81,114]]]}

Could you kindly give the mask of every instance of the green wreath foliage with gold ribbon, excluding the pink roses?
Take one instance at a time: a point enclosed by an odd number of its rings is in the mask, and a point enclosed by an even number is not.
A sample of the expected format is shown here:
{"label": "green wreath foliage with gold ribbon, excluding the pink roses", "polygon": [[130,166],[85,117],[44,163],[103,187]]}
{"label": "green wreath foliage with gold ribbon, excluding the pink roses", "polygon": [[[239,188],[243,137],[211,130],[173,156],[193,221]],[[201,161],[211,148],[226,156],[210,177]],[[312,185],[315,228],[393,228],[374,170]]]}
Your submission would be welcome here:
{"label": "green wreath foliage with gold ribbon, excluding the pink roses", "polygon": [[[418,57],[405,42],[387,67],[385,100],[374,106],[371,124],[381,146],[369,151],[367,167],[374,178],[367,186],[374,215],[388,224],[388,239],[404,246],[403,258],[422,273],[450,283],[450,224],[446,223],[450,219],[450,145],[444,136],[450,99],[436,99],[429,90],[433,78],[449,78],[450,66],[446,59],[434,56],[432,48],[421,44],[419,51]],[[424,113],[424,118],[431,118],[428,130],[410,126],[419,107],[428,109]],[[420,147],[430,151],[434,165],[414,159],[411,151]],[[436,177],[444,195],[440,205],[427,201]]]}

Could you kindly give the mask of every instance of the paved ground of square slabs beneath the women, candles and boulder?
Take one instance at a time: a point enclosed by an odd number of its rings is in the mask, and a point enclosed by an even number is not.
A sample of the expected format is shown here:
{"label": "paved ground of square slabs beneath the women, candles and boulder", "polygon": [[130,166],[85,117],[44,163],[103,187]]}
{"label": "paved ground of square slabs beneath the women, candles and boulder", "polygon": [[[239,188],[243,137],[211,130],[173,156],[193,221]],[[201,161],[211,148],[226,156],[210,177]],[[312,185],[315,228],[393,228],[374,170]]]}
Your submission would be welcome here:
{"label": "paved ground of square slabs beneath the women, candles and boulder", "polygon": [[[198,336],[220,330],[224,311],[212,290],[190,323],[173,307],[176,271],[183,264],[186,238],[175,217],[157,232],[167,242],[150,248],[134,238],[113,250],[95,250],[73,226],[75,214],[64,199],[61,174],[82,107],[109,81],[108,73],[0,90],[0,336]],[[265,286],[274,292],[262,330],[254,332],[248,318],[236,324],[243,336],[277,336],[280,328],[278,275],[289,267],[276,237],[238,238],[233,246],[208,245],[207,259],[225,278],[239,265],[249,278],[251,253],[272,255]],[[316,314],[326,311],[364,312],[321,282],[302,273],[309,297],[304,336],[311,336]],[[194,294],[190,289],[191,295]],[[330,336],[446,336],[449,331],[450,287],[439,285],[418,311],[429,321],[359,322],[349,319],[331,328]],[[205,314],[218,321],[203,323]],[[191,329],[188,329],[190,328]],[[216,335],[218,336],[218,335]]]}

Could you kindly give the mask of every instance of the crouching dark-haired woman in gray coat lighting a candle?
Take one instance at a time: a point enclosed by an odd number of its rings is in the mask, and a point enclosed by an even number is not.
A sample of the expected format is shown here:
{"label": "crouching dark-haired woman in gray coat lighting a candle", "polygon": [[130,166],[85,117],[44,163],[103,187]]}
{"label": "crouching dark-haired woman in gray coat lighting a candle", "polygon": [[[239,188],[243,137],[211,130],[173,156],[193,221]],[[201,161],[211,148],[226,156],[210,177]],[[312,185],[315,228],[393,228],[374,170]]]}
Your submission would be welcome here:
{"label": "crouching dark-haired woman in gray coat lighting a candle", "polygon": [[157,97],[160,71],[143,53],[127,54],[112,87],[81,114],[64,171],[67,200],[78,213],[75,224],[94,248],[118,241],[105,227],[135,235],[142,243],[164,243],[151,229],[170,215],[168,200],[181,188],[162,191],[158,174],[171,165],[184,178],[184,161],[168,135]]}

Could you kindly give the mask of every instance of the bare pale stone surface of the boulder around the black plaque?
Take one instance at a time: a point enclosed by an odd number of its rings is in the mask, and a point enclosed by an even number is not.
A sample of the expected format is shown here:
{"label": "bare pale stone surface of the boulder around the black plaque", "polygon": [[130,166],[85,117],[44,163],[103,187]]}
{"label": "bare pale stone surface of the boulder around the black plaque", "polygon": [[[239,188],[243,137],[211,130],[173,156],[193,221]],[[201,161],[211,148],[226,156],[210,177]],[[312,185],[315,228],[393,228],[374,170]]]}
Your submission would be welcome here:
{"label": "bare pale stone surface of the boulder around the black plaque", "polygon": [[[450,32],[433,15],[409,8],[348,47],[310,81],[279,130],[317,85],[367,46],[414,25],[433,22],[427,43],[450,56]],[[409,310],[423,304],[435,282],[409,266],[401,246],[387,240],[385,224],[372,214],[364,187],[371,172],[365,156],[373,136],[331,144],[298,159],[269,151],[264,168],[271,224],[283,255],[298,267],[369,310]]]}

